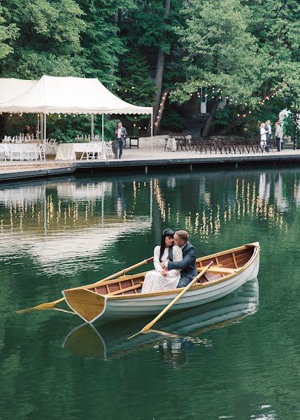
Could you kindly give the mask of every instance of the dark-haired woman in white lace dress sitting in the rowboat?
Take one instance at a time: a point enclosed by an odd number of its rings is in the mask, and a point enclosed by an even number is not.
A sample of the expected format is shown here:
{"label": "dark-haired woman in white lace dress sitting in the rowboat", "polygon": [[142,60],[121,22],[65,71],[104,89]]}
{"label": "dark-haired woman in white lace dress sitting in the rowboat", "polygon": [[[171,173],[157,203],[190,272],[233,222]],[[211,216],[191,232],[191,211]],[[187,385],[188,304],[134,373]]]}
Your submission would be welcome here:
{"label": "dark-haired woman in white lace dress sitting in the rowboat", "polygon": [[141,293],[160,292],[162,290],[175,289],[180,280],[180,269],[171,269],[166,271],[160,266],[160,262],[181,261],[183,260],[183,251],[180,246],[173,246],[174,231],[165,229],[162,232],[162,241],[160,246],[154,248],[154,266],[155,270],[145,275],[145,281]]}

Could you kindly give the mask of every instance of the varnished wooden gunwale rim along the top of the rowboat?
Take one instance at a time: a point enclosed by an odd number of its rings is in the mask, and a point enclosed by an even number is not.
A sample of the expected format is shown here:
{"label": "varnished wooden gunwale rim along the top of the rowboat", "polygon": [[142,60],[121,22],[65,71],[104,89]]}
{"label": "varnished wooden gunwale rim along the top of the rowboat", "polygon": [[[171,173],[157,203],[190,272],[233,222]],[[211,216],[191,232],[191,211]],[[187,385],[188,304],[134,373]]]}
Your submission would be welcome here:
{"label": "varnished wooden gunwale rim along the top of the rowboat", "polygon": [[[251,255],[251,257],[248,260],[248,262],[246,262],[245,265],[243,265],[243,267],[239,267],[236,272],[234,272],[232,274],[227,274],[227,275],[225,275],[224,277],[222,277],[220,279],[208,281],[207,283],[197,283],[194,286],[192,286],[190,288],[190,290],[197,290],[199,288],[210,287],[210,286],[213,286],[215,284],[218,284],[218,283],[222,283],[224,281],[227,281],[227,280],[233,278],[234,276],[236,276],[238,274],[241,274],[241,272],[245,271],[245,269],[247,269],[248,266],[250,264],[252,264],[252,262],[254,262],[254,260],[257,258],[258,253],[259,253],[259,245],[257,243],[248,244],[248,246],[239,246],[238,248],[232,248],[232,249],[229,249],[227,251],[222,251],[220,253],[215,253],[215,254],[212,254],[212,255],[205,255],[204,257],[197,258],[196,261],[197,262],[201,262],[201,260],[208,260],[210,258],[215,258],[216,255],[217,256],[227,255],[227,254],[233,253],[235,251],[243,251],[243,250],[248,249],[250,247],[255,248],[254,249],[254,252]],[[143,276],[143,275],[145,275],[145,273],[136,274],[135,276]],[[132,276],[132,278],[133,277],[134,276]],[[173,290],[164,290],[162,292],[143,293],[143,295],[141,295],[141,294],[138,294],[138,295],[132,294],[132,295],[117,295],[117,296],[103,295],[103,296],[106,296],[108,300],[122,300],[122,299],[135,299],[135,298],[141,298],[141,297],[147,298],[147,297],[155,297],[155,296],[161,296],[161,295],[170,295],[170,294],[174,294],[174,293],[178,294],[182,290],[183,290],[183,288],[178,288],[178,289],[173,289]]]}

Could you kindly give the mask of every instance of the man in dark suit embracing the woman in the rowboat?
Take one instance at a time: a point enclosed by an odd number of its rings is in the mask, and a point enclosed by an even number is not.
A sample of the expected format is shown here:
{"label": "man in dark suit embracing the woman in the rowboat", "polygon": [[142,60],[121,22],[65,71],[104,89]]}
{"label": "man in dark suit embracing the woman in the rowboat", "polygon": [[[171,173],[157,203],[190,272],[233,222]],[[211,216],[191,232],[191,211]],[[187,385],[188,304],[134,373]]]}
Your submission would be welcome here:
{"label": "man in dark suit embracing the woman in the rowboat", "polygon": [[196,269],[197,249],[192,246],[188,239],[189,234],[185,232],[185,230],[177,230],[173,237],[173,243],[174,245],[180,246],[183,250],[183,260],[177,262],[167,260],[160,263],[163,269],[181,270],[181,276],[177,288],[187,286],[198,274]]}

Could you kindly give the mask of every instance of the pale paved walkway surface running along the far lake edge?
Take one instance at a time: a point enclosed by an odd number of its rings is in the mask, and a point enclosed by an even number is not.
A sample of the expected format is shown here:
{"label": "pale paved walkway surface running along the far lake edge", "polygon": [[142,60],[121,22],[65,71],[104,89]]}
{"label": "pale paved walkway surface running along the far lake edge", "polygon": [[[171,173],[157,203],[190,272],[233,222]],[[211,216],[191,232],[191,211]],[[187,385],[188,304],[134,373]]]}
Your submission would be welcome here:
{"label": "pale paved walkway surface running along the far lake edge", "polygon": [[59,174],[70,174],[80,168],[111,168],[117,167],[146,167],[146,166],[165,166],[183,164],[210,164],[220,163],[238,164],[238,162],[299,162],[300,150],[293,151],[285,149],[281,152],[270,153],[243,153],[243,154],[206,154],[195,153],[194,151],[168,152],[164,148],[131,148],[124,149],[122,159],[108,160],[73,160],[62,161],[54,160],[54,156],[49,156],[47,160],[41,161],[0,161],[0,181],[9,179],[24,179],[34,176],[50,176]]}

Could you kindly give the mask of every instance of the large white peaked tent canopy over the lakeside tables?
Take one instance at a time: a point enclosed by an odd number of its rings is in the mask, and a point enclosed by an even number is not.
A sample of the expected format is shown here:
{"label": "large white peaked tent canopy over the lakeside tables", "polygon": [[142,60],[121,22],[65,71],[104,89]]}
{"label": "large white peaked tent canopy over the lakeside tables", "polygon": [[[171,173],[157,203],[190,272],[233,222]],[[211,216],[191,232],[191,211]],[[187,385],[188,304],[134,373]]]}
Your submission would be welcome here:
{"label": "large white peaked tent canopy over the lakeside tables", "polygon": [[8,102],[0,102],[1,112],[152,114],[152,107],[122,101],[97,78],[43,76],[37,82],[22,82],[31,83],[29,90],[15,99],[10,97]]}

